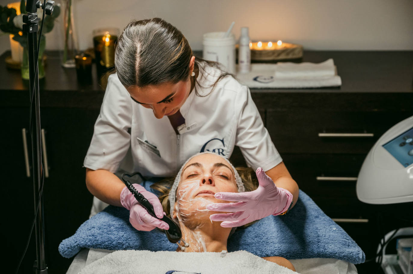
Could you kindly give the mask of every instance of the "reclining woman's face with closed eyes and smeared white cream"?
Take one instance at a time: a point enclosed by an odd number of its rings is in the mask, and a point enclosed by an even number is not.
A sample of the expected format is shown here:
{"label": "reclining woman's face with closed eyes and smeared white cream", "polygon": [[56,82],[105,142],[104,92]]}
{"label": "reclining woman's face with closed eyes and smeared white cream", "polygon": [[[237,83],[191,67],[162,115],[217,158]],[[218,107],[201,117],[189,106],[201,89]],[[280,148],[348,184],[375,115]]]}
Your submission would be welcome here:
{"label": "reclining woman's face with closed eyes and smeared white cream", "polygon": [[173,217],[194,228],[201,225],[202,220],[210,222],[209,215],[217,212],[207,210],[207,204],[229,203],[216,199],[217,192],[238,192],[233,169],[215,154],[193,157],[183,168]]}

